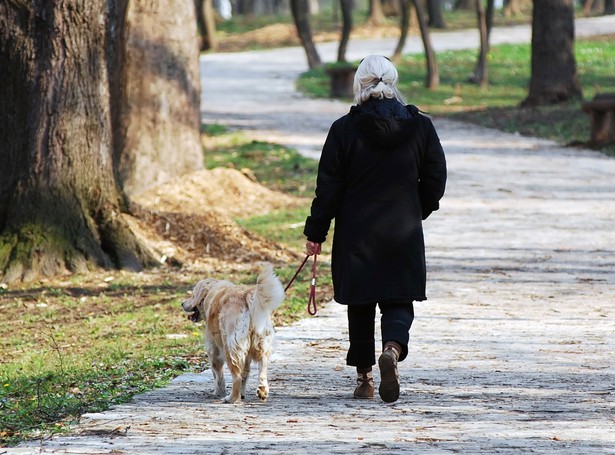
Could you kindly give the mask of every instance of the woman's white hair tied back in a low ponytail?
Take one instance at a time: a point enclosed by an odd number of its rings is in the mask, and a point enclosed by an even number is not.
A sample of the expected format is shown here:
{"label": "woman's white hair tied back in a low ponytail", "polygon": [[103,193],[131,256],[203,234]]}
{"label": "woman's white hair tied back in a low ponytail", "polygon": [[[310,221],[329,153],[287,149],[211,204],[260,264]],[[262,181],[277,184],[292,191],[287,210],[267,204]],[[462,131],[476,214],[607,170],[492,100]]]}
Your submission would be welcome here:
{"label": "woman's white hair tied back in a low ponytail", "polygon": [[397,89],[399,75],[391,61],[382,55],[368,55],[354,75],[354,102],[362,104],[370,98],[395,98],[405,104]]}

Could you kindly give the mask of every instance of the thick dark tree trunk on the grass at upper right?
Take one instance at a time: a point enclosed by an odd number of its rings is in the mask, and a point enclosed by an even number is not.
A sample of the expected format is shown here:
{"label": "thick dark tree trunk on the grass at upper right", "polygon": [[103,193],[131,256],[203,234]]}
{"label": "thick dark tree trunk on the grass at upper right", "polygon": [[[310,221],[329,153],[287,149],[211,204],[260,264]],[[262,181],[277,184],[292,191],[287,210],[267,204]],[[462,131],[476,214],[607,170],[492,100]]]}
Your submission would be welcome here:
{"label": "thick dark tree trunk on the grass at upper right", "polygon": [[574,57],[572,0],[535,0],[532,75],[525,106],[555,104],[582,96]]}

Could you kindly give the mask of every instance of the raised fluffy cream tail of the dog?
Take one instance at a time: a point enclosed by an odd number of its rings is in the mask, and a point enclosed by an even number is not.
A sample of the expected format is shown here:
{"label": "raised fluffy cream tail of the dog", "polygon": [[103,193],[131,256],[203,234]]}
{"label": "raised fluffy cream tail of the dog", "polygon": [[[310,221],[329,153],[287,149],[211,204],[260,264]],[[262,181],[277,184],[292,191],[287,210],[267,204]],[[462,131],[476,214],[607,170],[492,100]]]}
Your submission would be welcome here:
{"label": "raised fluffy cream tail of the dog", "polygon": [[271,313],[282,305],[284,301],[284,286],[273,272],[273,266],[263,264],[258,278],[256,278],[256,292],[250,299],[249,308],[252,323],[256,333],[263,333]]}

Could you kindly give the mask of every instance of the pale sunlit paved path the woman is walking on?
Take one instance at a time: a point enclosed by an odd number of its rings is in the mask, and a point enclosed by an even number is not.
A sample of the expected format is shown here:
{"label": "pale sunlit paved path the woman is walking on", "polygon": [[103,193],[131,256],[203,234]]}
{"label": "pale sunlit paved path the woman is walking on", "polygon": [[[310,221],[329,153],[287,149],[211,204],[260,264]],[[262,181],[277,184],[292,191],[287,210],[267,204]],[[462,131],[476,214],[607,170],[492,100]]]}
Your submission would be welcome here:
{"label": "pale sunlit paved path the woman is walking on", "polygon": [[[302,54],[255,68],[291,52],[206,57],[219,72],[205,99],[230,95],[205,118],[314,153],[347,106],[292,90],[280,100],[299,71],[284,65]],[[345,315],[330,304],[279,329],[267,403],[221,404],[209,372],[184,375],[8,453],[615,454],[615,159],[435,124],[450,179],[425,223],[429,300],[416,305],[399,401],[351,398]]]}

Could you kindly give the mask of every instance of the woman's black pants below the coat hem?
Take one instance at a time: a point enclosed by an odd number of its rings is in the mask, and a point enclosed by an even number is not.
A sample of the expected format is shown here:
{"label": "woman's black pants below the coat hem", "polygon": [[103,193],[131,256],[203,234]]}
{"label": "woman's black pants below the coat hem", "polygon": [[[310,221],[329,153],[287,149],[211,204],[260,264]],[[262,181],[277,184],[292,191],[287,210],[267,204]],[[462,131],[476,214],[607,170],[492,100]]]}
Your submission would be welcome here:
{"label": "woman's black pants below the coat hem", "polygon": [[350,348],[346,364],[358,368],[367,368],[376,364],[375,327],[376,305],[380,307],[380,330],[382,346],[387,341],[395,341],[401,346],[401,362],[408,356],[410,327],[414,320],[412,302],[380,302],[364,305],[348,305],[348,335]]}

